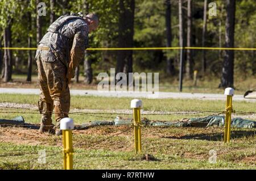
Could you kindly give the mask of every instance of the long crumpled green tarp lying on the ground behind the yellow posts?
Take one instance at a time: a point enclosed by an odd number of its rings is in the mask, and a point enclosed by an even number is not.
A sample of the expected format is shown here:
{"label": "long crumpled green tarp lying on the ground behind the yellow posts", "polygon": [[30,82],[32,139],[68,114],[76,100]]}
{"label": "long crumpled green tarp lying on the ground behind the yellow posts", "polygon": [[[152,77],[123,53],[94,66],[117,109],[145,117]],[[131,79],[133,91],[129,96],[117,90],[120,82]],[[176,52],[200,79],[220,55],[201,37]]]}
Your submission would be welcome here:
{"label": "long crumpled green tarp lying on the ground behind the yellow posts", "polygon": [[[191,119],[183,119],[179,121],[150,121],[143,117],[141,119],[143,125],[163,126],[163,127],[224,127],[225,116],[207,116],[194,117]],[[123,119],[117,116],[113,121],[90,121],[81,125],[76,125],[75,129],[87,129],[100,125],[132,125],[133,119]],[[26,124],[22,116],[15,117],[13,120],[0,119],[0,125],[19,125],[27,128],[38,129],[38,125]],[[233,128],[256,128],[256,121],[246,120],[240,117],[233,118],[231,121]]]}

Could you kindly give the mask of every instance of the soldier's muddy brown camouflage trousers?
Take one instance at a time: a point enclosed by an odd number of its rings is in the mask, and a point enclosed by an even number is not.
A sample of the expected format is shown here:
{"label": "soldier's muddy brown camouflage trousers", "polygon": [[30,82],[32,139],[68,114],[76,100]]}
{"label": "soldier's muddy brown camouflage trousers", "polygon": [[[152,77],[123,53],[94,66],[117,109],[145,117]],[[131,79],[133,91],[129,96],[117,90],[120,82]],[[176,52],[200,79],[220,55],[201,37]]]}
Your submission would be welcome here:
{"label": "soldier's muddy brown camouflage trousers", "polygon": [[40,85],[38,107],[42,115],[41,127],[43,131],[48,131],[53,128],[52,113],[55,113],[56,128],[59,128],[63,117],[68,117],[70,92],[67,68],[60,60],[56,60],[51,50],[37,50],[36,64]]}

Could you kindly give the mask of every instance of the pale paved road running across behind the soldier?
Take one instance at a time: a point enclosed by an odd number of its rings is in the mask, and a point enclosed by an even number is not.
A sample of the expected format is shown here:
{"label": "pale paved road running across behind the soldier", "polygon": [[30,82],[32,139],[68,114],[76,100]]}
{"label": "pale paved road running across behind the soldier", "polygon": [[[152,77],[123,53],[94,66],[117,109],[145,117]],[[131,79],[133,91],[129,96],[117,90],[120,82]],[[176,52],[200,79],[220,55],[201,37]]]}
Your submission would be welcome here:
{"label": "pale paved road running across behind the soldier", "polygon": [[[0,88],[0,94],[39,94],[39,89],[15,89]],[[130,97],[130,98],[173,98],[173,99],[201,99],[201,100],[225,100],[224,94],[203,94],[203,93],[180,93],[180,92],[159,92],[158,94],[150,94],[149,92],[121,92],[109,91],[102,92],[97,90],[71,90],[71,95],[86,96],[114,96],[114,97]],[[243,95],[234,95],[233,100],[245,100],[256,102],[256,99],[244,99]]]}

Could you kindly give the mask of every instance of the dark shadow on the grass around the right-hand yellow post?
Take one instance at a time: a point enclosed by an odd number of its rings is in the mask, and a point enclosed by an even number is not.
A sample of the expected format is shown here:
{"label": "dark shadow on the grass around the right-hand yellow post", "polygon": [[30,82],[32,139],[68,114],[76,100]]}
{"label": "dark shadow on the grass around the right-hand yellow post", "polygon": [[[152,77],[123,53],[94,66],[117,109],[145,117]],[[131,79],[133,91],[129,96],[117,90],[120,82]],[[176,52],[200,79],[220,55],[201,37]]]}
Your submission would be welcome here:
{"label": "dark shadow on the grass around the right-hand yellow post", "polygon": [[[231,138],[242,138],[242,137],[251,137],[256,136],[256,131],[232,131]],[[224,133],[200,133],[200,134],[189,134],[185,136],[168,136],[164,138],[171,139],[184,139],[184,140],[208,140],[208,141],[223,141]]]}

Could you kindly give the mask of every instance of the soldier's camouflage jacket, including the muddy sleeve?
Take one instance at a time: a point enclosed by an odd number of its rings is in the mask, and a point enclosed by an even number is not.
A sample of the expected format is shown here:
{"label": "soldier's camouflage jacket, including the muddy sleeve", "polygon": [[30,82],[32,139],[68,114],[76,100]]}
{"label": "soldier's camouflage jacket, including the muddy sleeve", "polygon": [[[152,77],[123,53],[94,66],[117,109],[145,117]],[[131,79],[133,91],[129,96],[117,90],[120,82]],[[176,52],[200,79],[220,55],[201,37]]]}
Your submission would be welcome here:
{"label": "soldier's camouflage jacket, including the muddy sleeve", "polygon": [[77,18],[65,22],[57,32],[48,31],[39,42],[39,45],[48,45],[55,60],[67,67],[69,80],[75,76],[76,66],[88,48],[88,33],[88,24]]}

